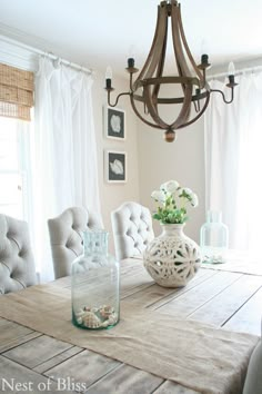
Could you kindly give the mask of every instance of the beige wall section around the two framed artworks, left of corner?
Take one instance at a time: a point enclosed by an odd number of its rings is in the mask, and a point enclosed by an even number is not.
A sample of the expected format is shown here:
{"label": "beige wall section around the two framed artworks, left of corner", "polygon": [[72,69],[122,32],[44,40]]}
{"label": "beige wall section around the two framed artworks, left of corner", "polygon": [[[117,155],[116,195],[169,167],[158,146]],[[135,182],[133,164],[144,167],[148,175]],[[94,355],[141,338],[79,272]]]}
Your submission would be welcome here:
{"label": "beige wall section around the two framed artworks, left of corner", "polygon": [[[128,81],[113,79],[115,90],[112,92],[112,98],[119,92],[127,91]],[[102,208],[102,217],[104,228],[109,230],[109,249],[113,253],[113,237],[111,229],[110,214],[118,208],[123,201],[139,201],[139,155],[138,155],[138,132],[137,117],[130,108],[129,98],[122,97],[118,107],[125,110],[125,140],[113,140],[104,137],[103,128],[103,106],[107,104],[107,92],[104,88],[104,73],[97,72],[94,76],[93,91],[93,115],[94,127],[98,142],[98,165],[99,165],[99,188]],[[112,101],[113,101],[112,100]],[[125,184],[108,184],[104,180],[103,174],[103,155],[104,150],[125,151],[128,158],[128,181]]]}

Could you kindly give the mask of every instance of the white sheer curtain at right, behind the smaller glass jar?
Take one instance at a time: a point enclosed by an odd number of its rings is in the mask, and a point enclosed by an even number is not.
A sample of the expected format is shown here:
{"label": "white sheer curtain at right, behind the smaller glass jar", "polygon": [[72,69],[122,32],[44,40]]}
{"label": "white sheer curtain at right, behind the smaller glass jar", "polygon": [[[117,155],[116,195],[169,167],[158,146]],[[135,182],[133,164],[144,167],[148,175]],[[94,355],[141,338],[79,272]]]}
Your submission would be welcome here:
{"label": "white sheer curtain at right, behind the smaller glass jar", "polygon": [[[230,247],[255,253],[262,223],[262,72],[236,79],[234,101],[224,105],[213,93],[205,114],[205,207],[222,210]],[[211,86],[229,95],[224,83]]]}

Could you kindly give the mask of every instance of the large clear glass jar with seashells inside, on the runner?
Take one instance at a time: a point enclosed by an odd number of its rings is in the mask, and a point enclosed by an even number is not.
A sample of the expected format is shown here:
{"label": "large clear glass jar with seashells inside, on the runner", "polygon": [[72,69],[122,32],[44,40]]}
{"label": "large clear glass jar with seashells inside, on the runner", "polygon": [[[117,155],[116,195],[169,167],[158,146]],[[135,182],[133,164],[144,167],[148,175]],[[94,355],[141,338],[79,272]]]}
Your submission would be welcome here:
{"label": "large clear glass jar with seashells inside, on the runner", "polygon": [[72,264],[72,323],[87,329],[110,328],[119,322],[120,272],[108,254],[108,233],[83,233],[84,253]]}

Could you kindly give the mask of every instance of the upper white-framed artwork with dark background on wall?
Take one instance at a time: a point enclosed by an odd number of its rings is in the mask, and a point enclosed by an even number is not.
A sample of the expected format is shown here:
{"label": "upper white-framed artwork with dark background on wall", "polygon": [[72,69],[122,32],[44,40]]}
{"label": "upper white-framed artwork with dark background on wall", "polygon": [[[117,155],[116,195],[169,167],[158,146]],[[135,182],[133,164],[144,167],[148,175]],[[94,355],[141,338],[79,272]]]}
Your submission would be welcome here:
{"label": "upper white-framed artwork with dark background on wall", "polygon": [[104,134],[108,138],[125,139],[125,111],[104,106]]}

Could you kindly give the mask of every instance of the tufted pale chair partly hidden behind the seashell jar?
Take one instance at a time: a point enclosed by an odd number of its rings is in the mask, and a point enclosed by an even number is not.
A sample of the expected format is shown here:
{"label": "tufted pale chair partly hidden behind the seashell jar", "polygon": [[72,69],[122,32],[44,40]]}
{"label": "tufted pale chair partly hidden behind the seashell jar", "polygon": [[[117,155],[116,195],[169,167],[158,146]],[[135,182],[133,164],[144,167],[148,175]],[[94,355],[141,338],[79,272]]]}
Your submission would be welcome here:
{"label": "tufted pale chair partly hidden behind the seashell jar", "polygon": [[56,279],[71,274],[71,263],[83,252],[82,232],[102,228],[99,217],[82,207],[71,207],[48,220]]}

